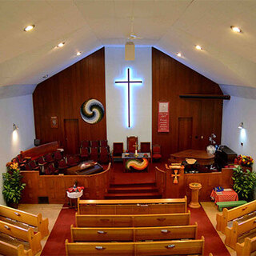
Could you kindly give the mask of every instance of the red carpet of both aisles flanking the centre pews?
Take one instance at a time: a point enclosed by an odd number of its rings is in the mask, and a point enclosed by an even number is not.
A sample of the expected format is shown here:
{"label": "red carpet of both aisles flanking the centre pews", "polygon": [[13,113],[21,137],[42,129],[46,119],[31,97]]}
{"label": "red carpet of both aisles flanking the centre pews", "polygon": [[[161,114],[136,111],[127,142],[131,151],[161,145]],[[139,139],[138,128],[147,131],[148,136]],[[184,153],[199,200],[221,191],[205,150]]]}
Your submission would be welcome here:
{"label": "red carpet of both aisles flanking the centre pews", "polygon": [[[224,246],[221,238],[219,238],[217,231],[202,207],[189,210],[191,211],[191,224],[198,222],[198,238],[201,238],[203,235],[206,239],[205,255],[209,255],[211,252],[214,256],[229,256],[230,254],[226,250],[226,246]],[[46,246],[42,250],[42,256],[64,256],[66,254],[65,240],[67,238],[70,241],[70,225],[74,224],[74,213],[74,209],[66,207],[61,210],[46,242]]]}

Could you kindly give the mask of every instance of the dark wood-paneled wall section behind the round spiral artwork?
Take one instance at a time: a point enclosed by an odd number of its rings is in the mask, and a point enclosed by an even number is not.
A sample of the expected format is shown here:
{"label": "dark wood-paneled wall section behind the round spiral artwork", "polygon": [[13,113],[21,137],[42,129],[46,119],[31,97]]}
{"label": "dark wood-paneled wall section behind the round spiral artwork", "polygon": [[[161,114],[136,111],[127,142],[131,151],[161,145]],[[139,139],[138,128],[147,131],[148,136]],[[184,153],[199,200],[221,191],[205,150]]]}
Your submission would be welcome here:
{"label": "dark wood-paneled wall section behind the round spiral artwork", "polygon": [[[104,48],[38,84],[33,94],[36,137],[41,143],[58,141],[61,146],[69,145],[66,150],[70,153],[78,153],[74,144],[83,139],[106,139],[106,112],[94,125],[81,118],[80,107],[90,98],[98,99],[106,110]],[[51,128],[50,118],[55,116],[58,128]],[[66,138],[66,133],[67,137],[78,134]],[[73,142],[67,143],[69,140]]]}

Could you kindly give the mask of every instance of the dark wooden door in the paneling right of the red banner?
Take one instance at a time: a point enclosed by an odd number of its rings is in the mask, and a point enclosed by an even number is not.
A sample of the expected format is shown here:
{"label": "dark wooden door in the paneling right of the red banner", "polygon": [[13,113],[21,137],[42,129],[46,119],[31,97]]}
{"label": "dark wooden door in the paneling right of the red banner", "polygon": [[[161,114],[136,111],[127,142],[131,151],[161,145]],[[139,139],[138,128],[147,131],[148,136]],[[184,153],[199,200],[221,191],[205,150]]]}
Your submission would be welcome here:
{"label": "dark wooden door in the paneling right of the red banner", "polygon": [[178,151],[192,146],[193,118],[178,118]]}

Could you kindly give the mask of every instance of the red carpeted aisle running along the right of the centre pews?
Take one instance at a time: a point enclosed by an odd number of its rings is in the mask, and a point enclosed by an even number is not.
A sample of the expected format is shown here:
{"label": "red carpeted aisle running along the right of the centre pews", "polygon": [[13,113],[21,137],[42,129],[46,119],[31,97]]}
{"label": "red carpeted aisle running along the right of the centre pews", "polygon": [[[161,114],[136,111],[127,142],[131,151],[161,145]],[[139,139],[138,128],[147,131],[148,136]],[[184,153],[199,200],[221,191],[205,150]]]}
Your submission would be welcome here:
{"label": "red carpeted aisle running along the right of the centre pews", "polygon": [[230,256],[229,251],[218,236],[203,208],[192,209],[188,207],[188,210],[191,212],[190,223],[198,222],[198,238],[201,238],[203,235],[206,240],[205,255],[212,253],[214,256]]}

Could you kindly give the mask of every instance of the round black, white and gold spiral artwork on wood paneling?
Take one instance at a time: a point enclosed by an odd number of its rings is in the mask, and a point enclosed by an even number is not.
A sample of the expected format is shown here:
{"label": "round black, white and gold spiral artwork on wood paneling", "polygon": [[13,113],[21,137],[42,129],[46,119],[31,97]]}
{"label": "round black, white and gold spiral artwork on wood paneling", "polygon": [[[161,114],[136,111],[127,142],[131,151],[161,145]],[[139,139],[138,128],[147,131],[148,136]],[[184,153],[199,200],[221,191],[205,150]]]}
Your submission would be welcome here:
{"label": "round black, white and gold spiral artwork on wood paneling", "polygon": [[80,114],[85,122],[95,124],[104,117],[104,106],[95,98],[90,98],[82,103]]}

